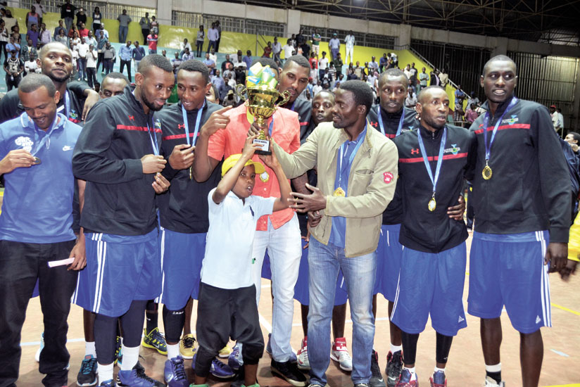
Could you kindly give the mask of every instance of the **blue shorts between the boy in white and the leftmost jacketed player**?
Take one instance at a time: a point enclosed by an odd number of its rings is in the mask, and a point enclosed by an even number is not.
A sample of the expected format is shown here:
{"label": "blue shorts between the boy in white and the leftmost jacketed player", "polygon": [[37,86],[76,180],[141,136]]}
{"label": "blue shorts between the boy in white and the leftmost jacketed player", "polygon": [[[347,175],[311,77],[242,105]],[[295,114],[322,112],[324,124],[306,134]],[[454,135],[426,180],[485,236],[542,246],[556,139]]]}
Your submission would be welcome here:
{"label": "blue shorts between the boy in white and the leftmost jacketed player", "polygon": [[159,252],[163,291],[157,303],[163,303],[169,310],[181,310],[189,298],[197,300],[206,236],[205,232],[183,234],[161,228]]}

